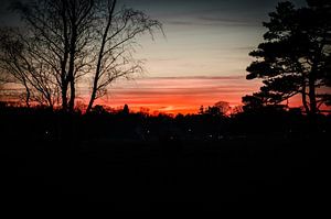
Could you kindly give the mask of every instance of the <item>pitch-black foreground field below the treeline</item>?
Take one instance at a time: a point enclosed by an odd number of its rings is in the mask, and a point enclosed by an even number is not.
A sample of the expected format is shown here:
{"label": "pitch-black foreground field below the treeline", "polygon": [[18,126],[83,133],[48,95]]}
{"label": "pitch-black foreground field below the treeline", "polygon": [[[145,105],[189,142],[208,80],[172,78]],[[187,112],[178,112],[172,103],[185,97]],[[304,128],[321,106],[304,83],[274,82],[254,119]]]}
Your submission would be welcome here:
{"label": "pitch-black foreground field below the treeline", "polygon": [[327,205],[327,140],[11,140],[1,146],[1,199],[11,206],[109,202],[118,210],[217,210],[224,202]]}

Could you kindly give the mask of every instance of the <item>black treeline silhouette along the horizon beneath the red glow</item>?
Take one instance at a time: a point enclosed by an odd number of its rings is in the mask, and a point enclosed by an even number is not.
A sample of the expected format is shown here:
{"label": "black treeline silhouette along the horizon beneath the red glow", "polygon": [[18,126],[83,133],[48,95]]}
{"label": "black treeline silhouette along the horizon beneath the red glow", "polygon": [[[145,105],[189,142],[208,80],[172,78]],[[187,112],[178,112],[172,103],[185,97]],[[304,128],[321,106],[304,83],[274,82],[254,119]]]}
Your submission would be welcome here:
{"label": "black treeline silhouette along the horizon beneath the red glow", "polygon": [[[127,107],[127,106],[126,106]],[[115,140],[115,141],[217,141],[226,138],[275,135],[309,138],[330,133],[331,118],[320,114],[312,121],[299,109],[285,110],[268,106],[232,116],[211,111],[195,114],[151,116],[129,112],[128,107],[108,112],[96,106],[83,114],[50,108],[0,107],[1,133],[10,138],[47,141]]]}

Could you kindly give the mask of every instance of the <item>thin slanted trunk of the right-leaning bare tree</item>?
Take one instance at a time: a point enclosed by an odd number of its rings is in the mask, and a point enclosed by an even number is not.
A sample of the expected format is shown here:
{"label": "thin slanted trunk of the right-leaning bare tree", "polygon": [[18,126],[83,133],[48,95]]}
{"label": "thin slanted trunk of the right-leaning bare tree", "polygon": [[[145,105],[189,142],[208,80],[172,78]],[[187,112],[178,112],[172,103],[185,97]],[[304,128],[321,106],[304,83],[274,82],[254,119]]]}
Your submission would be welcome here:
{"label": "thin slanted trunk of the right-leaning bare tree", "polygon": [[116,6],[116,0],[113,0],[111,4],[110,4],[110,1],[108,1],[109,17],[108,17],[108,22],[107,22],[105,32],[103,34],[102,46],[100,46],[100,51],[99,51],[99,54],[98,54],[98,62],[97,62],[95,77],[94,77],[94,81],[93,81],[93,89],[92,89],[92,94],[90,94],[90,98],[89,98],[89,102],[88,102],[86,112],[89,112],[92,110],[94,100],[96,99],[96,92],[97,92],[97,89],[98,89],[98,80],[99,80],[100,68],[102,68],[102,61],[103,61],[103,57],[104,57],[103,54],[104,54],[104,51],[105,51],[105,45],[106,45],[106,41],[107,41],[107,36],[108,36],[108,31],[109,31],[109,28],[111,25],[111,20],[113,20],[115,6]]}

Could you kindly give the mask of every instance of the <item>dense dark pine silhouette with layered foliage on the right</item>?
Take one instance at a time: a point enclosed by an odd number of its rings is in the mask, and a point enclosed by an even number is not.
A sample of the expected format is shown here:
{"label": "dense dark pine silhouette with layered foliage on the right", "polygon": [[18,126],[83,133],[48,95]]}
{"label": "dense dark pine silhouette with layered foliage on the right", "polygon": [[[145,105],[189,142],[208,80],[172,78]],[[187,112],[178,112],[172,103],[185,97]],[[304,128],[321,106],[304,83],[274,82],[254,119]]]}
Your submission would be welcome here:
{"label": "dense dark pine silhouette with layered foliage on the right", "polygon": [[301,9],[278,3],[264,23],[265,42],[249,53],[257,61],[247,67],[247,79],[263,78],[264,86],[253,97],[244,97],[244,102],[277,105],[301,95],[306,112],[313,116],[330,101],[330,7],[329,1],[308,1]]}

